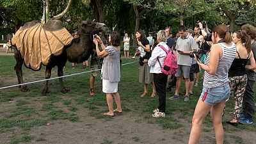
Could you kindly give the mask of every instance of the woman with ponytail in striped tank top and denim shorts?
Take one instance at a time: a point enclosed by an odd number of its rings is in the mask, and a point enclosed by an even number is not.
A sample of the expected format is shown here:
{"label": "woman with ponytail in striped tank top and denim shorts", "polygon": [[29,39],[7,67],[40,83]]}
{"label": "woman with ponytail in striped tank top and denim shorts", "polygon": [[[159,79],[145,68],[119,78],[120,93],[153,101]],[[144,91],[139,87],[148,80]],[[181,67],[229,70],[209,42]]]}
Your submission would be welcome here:
{"label": "woman with ponytail in striped tank top and denim shorts", "polygon": [[215,44],[207,54],[204,64],[195,56],[196,63],[205,70],[205,77],[203,90],[192,119],[189,144],[198,143],[202,124],[210,111],[216,143],[221,144],[224,141],[221,119],[225,100],[230,96],[228,69],[236,57],[236,45],[232,43],[232,36],[224,24],[212,29],[212,42]]}

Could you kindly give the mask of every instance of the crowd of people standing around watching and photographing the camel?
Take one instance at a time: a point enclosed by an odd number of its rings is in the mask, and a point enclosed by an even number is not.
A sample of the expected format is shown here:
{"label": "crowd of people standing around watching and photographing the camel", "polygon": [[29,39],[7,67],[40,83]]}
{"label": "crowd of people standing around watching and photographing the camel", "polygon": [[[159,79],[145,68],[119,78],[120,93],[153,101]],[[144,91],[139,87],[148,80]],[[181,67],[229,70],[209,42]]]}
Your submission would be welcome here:
{"label": "crowd of people standing around watching and photographing the camel", "polygon": [[[254,109],[253,84],[255,83],[255,52],[256,28],[245,24],[241,30],[230,33],[228,26],[215,26],[211,33],[201,22],[192,29],[179,26],[179,33],[172,37],[171,28],[158,31],[155,40],[152,33],[146,38],[145,32],[136,31],[137,49],[134,56],[139,55],[140,72],[138,81],[143,84],[144,92],[140,97],[148,95],[148,84],[152,85],[151,97],[158,97],[158,106],[152,112],[152,117],[166,116],[166,92],[175,88],[175,94],[170,100],[180,99],[180,86],[185,80],[184,101],[189,101],[193,95],[193,86],[200,83],[200,71],[204,71],[202,93],[196,104],[192,119],[189,143],[197,143],[200,138],[202,124],[211,112],[216,143],[223,143],[224,131],[222,118],[225,105],[229,99],[234,99],[234,117],[227,124],[252,124]],[[122,113],[118,82],[120,81],[120,35],[113,31],[109,37],[109,46],[102,36],[93,39],[95,56],[102,58],[101,69],[102,92],[106,93],[109,111],[104,115],[115,116]],[[124,56],[129,57],[130,38],[125,33]],[[168,52],[177,57],[177,73],[166,75],[162,67]],[[91,68],[94,70],[92,56]],[[99,63],[97,66],[99,68]],[[93,84],[97,72],[90,78],[90,95],[94,95]],[[113,109],[113,97],[116,109]]]}

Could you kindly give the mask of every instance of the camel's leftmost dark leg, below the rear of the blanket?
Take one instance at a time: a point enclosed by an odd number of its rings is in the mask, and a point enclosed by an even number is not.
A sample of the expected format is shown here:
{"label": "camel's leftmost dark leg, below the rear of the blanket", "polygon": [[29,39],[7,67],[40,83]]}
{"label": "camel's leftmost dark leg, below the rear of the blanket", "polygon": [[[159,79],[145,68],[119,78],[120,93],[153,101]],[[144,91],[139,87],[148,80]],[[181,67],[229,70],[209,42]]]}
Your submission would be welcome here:
{"label": "camel's leftmost dark leg, below the rear of the blanket", "polygon": [[[18,83],[19,84],[22,84],[24,83],[23,82],[23,77],[22,77],[22,65],[24,63],[24,59],[22,59],[21,55],[20,55],[20,52],[17,51],[17,48],[15,47],[14,49],[14,57],[15,57],[15,60],[16,60],[16,65],[14,67],[14,70],[16,72],[16,75],[17,75],[17,79],[18,79]],[[22,92],[27,92],[28,91],[28,87],[26,85],[21,85],[19,86],[20,88],[20,91]]]}

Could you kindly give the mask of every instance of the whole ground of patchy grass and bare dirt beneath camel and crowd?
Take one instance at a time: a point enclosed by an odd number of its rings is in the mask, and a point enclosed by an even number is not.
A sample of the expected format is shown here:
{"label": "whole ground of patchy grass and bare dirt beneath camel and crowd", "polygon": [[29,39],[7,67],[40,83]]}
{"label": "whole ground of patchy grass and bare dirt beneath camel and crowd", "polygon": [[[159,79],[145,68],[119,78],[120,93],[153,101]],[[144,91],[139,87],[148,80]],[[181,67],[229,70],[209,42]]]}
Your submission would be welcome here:
{"label": "whole ground of patchy grass and bare dirt beneath camel and crowd", "polygon": [[[0,52],[0,88],[17,84],[12,55],[12,52],[8,56]],[[122,59],[123,63],[133,61],[137,60]],[[28,84],[29,92],[20,92],[17,87],[0,90],[0,143],[188,143],[191,118],[202,84],[195,88],[195,96],[189,102],[167,100],[166,117],[152,118],[157,98],[140,97],[143,86],[138,83],[138,67],[138,62],[122,66],[119,92],[124,112],[114,117],[102,115],[108,108],[100,90],[99,76],[96,94],[90,97],[90,73],[65,77],[64,84],[71,90],[65,94],[60,92],[58,80],[49,82],[51,93],[47,96],[41,94],[43,83]],[[44,79],[44,67],[39,72],[23,70],[25,82]],[[86,72],[89,68],[79,64],[72,69],[71,63],[67,63],[64,70],[67,75]],[[56,68],[52,70],[52,77],[56,77]],[[168,93],[168,97],[172,94]],[[255,124],[238,127],[225,124],[232,118],[230,111],[232,100],[223,117],[225,143],[255,143]],[[209,116],[199,143],[215,143]]]}

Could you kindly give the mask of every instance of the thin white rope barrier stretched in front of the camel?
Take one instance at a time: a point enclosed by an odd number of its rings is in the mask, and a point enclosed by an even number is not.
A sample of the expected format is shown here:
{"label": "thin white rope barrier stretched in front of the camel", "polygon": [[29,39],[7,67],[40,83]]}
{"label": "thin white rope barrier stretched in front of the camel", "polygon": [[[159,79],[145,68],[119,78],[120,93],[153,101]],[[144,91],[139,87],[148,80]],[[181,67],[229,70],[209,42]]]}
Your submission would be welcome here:
{"label": "thin white rope barrier stretched in front of the camel", "polygon": [[[131,63],[136,63],[138,61],[133,61]],[[122,65],[129,65],[131,63],[124,63]],[[59,79],[61,77],[70,77],[70,76],[76,76],[76,75],[79,75],[79,74],[85,74],[85,73],[88,73],[88,72],[94,72],[94,71],[98,71],[98,70],[101,70],[101,69],[97,69],[97,70],[89,70],[89,71],[86,71],[86,72],[79,72],[79,73],[76,73],[76,74],[69,74],[67,76],[60,76],[60,77],[52,77],[52,78],[49,78],[49,79],[42,79],[42,80],[38,80],[38,81],[31,81],[31,82],[28,82],[28,83],[21,83],[21,84],[15,84],[15,85],[11,85],[11,86],[4,86],[4,87],[0,87],[0,90],[4,89],[4,88],[12,88],[12,87],[15,87],[15,86],[22,86],[22,85],[25,85],[25,84],[31,84],[31,83],[38,83],[38,82],[42,82],[42,81],[49,81],[49,80],[52,80],[52,79]]]}

